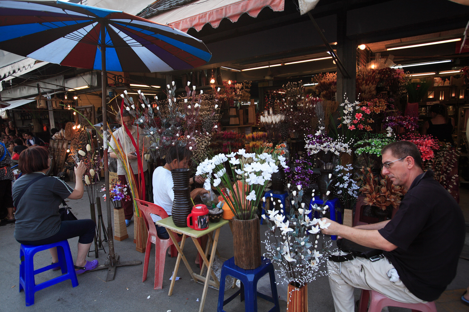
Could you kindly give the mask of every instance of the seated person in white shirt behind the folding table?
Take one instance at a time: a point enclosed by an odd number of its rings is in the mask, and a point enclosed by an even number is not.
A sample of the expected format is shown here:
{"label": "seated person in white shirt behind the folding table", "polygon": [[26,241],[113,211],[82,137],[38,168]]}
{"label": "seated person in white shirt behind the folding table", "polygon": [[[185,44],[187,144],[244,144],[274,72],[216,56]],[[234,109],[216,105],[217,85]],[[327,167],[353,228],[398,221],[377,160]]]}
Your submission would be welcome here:
{"label": "seated person in white shirt behind the folding table", "polygon": [[[166,165],[158,167],[153,171],[153,202],[166,210],[168,216],[171,216],[171,209],[173,208],[174,200],[174,183],[171,170],[176,168],[187,168],[190,156],[192,156],[192,152],[185,147],[170,147],[166,152]],[[204,181],[205,179],[203,177],[197,175],[189,179],[189,184],[191,185],[194,182],[203,184]],[[194,199],[205,193],[208,193],[206,189],[197,188],[190,192],[190,197]],[[155,214],[151,214],[151,218],[153,219],[153,222],[161,220],[161,217]],[[160,239],[169,239],[169,234],[166,232],[164,227],[157,225],[156,230]],[[206,242],[207,237],[203,236],[201,244],[203,249],[205,248]],[[196,264],[199,264],[199,257],[197,257],[195,262]]]}

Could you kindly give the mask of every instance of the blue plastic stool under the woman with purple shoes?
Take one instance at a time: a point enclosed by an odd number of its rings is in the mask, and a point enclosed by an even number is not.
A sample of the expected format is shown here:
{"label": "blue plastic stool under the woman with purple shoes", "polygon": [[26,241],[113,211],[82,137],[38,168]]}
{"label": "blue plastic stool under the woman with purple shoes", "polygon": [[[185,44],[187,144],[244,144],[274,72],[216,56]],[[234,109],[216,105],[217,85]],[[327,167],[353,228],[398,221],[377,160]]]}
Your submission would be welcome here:
{"label": "blue plastic stool under the woman with purple shoes", "polygon": [[[33,257],[39,251],[47,250],[57,247],[57,254],[59,262],[48,265],[44,268],[34,269]],[[23,245],[20,247],[20,292],[24,289],[24,297],[26,299],[26,306],[34,305],[34,293],[38,290],[52,286],[65,280],[71,280],[72,286],[78,286],[78,279],[76,278],[75,265],[68,246],[67,240],[62,240],[56,243],[47,245]],[[62,275],[57,276],[51,280],[45,281],[36,285],[34,276],[36,274],[51,270],[56,267],[61,267]]]}

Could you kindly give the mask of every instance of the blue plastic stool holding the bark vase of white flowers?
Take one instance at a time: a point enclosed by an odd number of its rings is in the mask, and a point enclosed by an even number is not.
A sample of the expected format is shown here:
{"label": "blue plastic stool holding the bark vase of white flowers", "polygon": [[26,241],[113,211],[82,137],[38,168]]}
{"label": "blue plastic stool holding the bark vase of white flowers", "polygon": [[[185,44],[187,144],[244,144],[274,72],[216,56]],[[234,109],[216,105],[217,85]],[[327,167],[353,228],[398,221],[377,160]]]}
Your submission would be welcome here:
{"label": "blue plastic stool holding the bark vase of white flowers", "polygon": [[[257,282],[267,273],[270,276],[272,297],[266,296],[257,291]],[[241,289],[236,291],[236,293],[234,293],[234,295],[228,299],[223,300],[225,297],[225,279],[227,275],[239,279],[241,282]],[[261,265],[253,270],[245,270],[236,266],[234,264],[234,257],[223,263],[220,276],[220,290],[218,293],[217,312],[226,312],[223,310],[223,306],[238,295],[241,295],[241,301],[246,299],[244,302],[245,312],[257,312],[257,296],[274,304],[273,308],[270,309],[269,312],[280,312],[279,296],[277,295],[277,284],[275,283],[275,272],[269,259],[262,257]]]}

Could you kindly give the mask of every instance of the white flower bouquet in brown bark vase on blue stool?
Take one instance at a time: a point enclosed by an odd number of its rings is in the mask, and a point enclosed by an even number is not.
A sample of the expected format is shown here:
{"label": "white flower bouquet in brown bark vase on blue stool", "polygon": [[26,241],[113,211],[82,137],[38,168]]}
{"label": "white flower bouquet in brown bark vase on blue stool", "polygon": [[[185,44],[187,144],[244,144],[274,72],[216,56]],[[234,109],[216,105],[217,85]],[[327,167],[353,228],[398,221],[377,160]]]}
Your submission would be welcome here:
{"label": "white flower bouquet in brown bark vase on blue stool", "polygon": [[[229,166],[225,167],[228,159]],[[246,153],[241,149],[215,155],[197,167],[196,175],[206,177],[204,188],[210,190],[213,185],[234,214],[234,263],[243,269],[254,269],[261,264],[257,206],[272,174],[279,171],[276,161],[287,167],[281,155],[276,160],[268,153]],[[234,182],[230,176],[234,177]]]}

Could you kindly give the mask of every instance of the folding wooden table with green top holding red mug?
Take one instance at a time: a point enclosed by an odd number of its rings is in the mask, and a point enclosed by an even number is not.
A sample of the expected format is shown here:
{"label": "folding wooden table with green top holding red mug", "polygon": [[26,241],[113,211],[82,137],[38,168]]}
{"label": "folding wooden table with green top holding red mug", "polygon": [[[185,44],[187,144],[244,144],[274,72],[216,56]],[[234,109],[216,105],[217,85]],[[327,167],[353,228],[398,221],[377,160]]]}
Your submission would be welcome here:
{"label": "folding wooden table with green top holding red mug", "polygon": [[[204,310],[204,304],[205,304],[205,297],[207,295],[207,290],[209,284],[215,288],[220,288],[220,283],[218,281],[217,276],[215,276],[215,273],[212,270],[212,265],[213,265],[213,259],[215,259],[215,254],[218,254],[217,251],[217,244],[218,244],[218,237],[220,235],[220,227],[223,225],[226,225],[229,221],[225,219],[221,219],[218,223],[209,223],[209,227],[206,230],[203,231],[197,231],[194,229],[191,229],[190,227],[177,227],[174,225],[173,219],[171,217],[159,220],[156,224],[159,226],[164,226],[166,228],[166,231],[169,234],[169,237],[173,240],[174,246],[176,247],[178,251],[178,256],[176,259],[176,265],[174,266],[174,272],[173,272],[173,278],[171,279],[171,286],[169,287],[169,292],[168,296],[171,296],[173,294],[173,287],[174,287],[174,281],[176,280],[176,274],[177,270],[179,268],[179,264],[182,261],[184,261],[184,264],[186,265],[186,268],[188,269],[190,275],[194,279],[195,282],[204,282],[204,291],[202,292],[202,298],[200,300],[200,307],[199,307],[199,312],[202,312]],[[181,240],[181,246],[179,246],[178,242],[174,238],[174,235],[171,231],[182,234],[182,240]],[[215,231],[215,236],[212,238],[212,232]],[[205,251],[202,249],[198,242],[198,238],[204,236],[205,234],[208,235],[208,241],[207,241],[207,247],[205,248]],[[204,263],[202,264],[202,268],[200,270],[200,274],[196,274],[192,271],[192,268],[189,265],[189,262],[187,261],[186,257],[184,256],[183,249],[184,249],[184,243],[186,242],[186,237],[189,236],[192,241],[194,242],[194,245],[196,245],[197,250],[199,251],[199,254],[202,257],[202,260]],[[212,253],[210,257],[210,261],[207,259],[207,254],[208,250],[210,247],[210,244],[212,244]],[[207,266],[207,275],[202,276],[204,266]],[[213,277],[213,281],[210,279],[210,275]]]}

